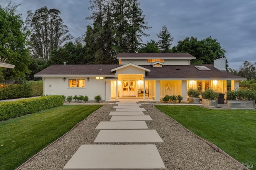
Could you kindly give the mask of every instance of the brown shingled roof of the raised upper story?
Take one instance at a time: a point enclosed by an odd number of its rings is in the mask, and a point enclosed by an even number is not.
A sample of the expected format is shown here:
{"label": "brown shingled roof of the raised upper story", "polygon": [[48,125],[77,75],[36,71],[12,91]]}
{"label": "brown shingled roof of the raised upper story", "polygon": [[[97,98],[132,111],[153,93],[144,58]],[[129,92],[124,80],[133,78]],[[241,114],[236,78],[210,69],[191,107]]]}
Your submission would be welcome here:
{"label": "brown shingled roof of the raised upper story", "polygon": [[118,53],[117,59],[122,58],[147,58],[147,59],[157,59],[157,58],[191,58],[196,59],[189,53]]}

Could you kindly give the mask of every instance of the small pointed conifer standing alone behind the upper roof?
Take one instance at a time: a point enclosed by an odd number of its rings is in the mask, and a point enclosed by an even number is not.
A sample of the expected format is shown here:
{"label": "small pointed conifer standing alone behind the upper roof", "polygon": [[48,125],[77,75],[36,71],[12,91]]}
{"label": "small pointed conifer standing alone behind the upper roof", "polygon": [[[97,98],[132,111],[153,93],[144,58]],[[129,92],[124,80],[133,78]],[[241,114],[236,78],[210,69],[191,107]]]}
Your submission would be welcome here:
{"label": "small pointed conifer standing alone behind the upper roof", "polygon": [[162,53],[170,52],[170,47],[172,45],[173,37],[168,31],[166,25],[162,27],[162,31],[159,34],[156,34],[159,40],[157,41],[158,48]]}

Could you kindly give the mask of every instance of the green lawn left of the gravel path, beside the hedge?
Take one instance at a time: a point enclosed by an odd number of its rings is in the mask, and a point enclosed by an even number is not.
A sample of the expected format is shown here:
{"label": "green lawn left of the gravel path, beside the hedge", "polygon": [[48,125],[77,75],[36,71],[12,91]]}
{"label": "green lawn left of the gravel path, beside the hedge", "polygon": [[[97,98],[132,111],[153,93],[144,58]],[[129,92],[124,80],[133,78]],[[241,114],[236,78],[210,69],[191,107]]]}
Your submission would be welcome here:
{"label": "green lawn left of the gravel path, beside the hedge", "polygon": [[100,107],[60,106],[0,122],[0,169],[18,168]]}

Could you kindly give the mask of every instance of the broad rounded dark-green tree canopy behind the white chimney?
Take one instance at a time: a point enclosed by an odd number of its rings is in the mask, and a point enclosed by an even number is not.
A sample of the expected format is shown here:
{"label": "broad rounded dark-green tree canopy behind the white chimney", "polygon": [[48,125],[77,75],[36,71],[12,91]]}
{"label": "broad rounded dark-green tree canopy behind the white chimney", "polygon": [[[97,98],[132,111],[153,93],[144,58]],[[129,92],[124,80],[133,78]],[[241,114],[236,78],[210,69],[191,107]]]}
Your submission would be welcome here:
{"label": "broad rounded dark-green tree canopy behind the white chimney", "polygon": [[172,47],[172,52],[190,53],[196,57],[196,60],[192,60],[191,64],[213,64],[213,61],[219,57],[226,58],[226,50],[222,49],[220,43],[212,37],[202,40],[198,40],[196,37],[186,37],[184,40],[178,41],[177,46]]}

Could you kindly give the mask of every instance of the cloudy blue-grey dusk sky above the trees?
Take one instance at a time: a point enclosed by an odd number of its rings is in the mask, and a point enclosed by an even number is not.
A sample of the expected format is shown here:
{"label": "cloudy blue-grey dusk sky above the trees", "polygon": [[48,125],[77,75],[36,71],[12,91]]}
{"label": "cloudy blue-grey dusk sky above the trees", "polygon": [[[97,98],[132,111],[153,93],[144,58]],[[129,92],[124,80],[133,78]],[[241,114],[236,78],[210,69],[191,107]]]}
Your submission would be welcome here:
{"label": "cloudy blue-grey dusk sky above the trees", "polygon": [[[9,0],[1,0],[5,8]],[[20,4],[17,14],[26,20],[26,12],[47,6],[60,10],[64,25],[74,38],[86,32],[92,21],[84,18],[91,15],[89,0],[12,0]],[[157,33],[166,25],[174,37],[172,46],[185,37],[198,40],[212,37],[227,51],[230,68],[238,69],[244,61],[256,62],[256,1],[255,0],[140,0],[145,21],[152,27],[145,31],[150,39],[158,41]]]}

